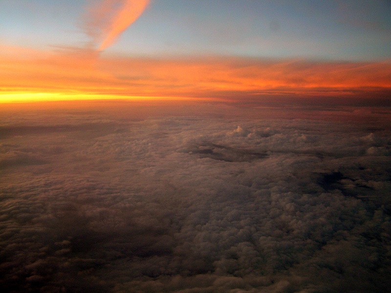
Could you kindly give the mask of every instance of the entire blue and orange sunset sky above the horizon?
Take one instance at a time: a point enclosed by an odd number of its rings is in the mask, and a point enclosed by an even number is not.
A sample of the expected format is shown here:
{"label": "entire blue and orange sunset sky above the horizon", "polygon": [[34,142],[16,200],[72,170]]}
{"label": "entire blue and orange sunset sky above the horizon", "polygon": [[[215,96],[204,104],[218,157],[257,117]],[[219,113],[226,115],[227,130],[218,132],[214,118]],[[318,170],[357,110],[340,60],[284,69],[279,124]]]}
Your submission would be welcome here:
{"label": "entire blue and orange sunset sky above the horizon", "polygon": [[1,101],[386,99],[389,1],[0,2]]}

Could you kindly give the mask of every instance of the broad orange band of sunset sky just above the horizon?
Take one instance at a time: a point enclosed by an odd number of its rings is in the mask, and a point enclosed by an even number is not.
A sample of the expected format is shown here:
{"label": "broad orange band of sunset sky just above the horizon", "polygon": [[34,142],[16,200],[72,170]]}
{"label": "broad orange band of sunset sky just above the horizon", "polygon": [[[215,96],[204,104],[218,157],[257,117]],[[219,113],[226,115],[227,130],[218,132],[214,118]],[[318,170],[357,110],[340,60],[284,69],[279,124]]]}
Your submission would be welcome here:
{"label": "broad orange band of sunset sky just above the horizon", "polygon": [[72,48],[47,52],[0,46],[0,76],[1,102],[18,100],[15,94],[27,94],[23,99],[39,94],[47,100],[67,99],[69,95],[235,100],[264,95],[376,97],[391,92],[389,61],[216,56],[152,59],[108,57],[95,50]]}

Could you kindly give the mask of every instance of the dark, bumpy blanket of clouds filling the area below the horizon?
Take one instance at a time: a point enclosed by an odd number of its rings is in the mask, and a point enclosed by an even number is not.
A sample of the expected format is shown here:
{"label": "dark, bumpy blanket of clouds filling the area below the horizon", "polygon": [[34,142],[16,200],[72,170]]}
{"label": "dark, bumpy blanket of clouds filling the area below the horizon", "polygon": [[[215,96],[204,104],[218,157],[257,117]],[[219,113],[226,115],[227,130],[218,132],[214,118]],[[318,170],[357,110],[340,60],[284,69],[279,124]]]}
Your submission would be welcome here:
{"label": "dark, bumpy blanket of clouds filling the area below the horizon", "polygon": [[124,105],[1,112],[5,292],[390,288],[389,110]]}

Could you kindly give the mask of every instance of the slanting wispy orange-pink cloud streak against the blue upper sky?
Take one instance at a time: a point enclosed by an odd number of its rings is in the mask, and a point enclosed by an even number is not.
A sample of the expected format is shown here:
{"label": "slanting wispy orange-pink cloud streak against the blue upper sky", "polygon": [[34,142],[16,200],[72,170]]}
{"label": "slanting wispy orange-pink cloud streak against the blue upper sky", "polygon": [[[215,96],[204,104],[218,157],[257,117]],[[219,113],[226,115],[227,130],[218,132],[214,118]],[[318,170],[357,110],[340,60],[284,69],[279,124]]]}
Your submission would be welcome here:
{"label": "slanting wispy orange-pink cloud streak against the blue upper sky", "polygon": [[149,0],[103,0],[87,9],[85,30],[91,36],[98,50],[111,46],[140,15]]}

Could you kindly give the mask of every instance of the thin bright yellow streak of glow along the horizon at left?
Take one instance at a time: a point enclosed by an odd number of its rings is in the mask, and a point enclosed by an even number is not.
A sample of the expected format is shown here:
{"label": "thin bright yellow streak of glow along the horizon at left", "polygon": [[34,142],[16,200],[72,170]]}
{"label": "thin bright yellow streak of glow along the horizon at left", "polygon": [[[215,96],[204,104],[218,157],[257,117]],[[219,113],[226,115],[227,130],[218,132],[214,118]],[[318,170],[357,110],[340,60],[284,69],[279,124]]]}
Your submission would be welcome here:
{"label": "thin bright yellow streak of glow along the horizon at left", "polygon": [[[122,96],[109,94],[68,94],[68,93],[0,93],[0,104],[6,103],[30,103],[30,102],[55,102],[55,101],[93,101],[93,100],[130,100],[130,101],[183,101],[199,100],[189,97],[163,97],[163,96]],[[202,100],[211,100],[205,99]]]}

